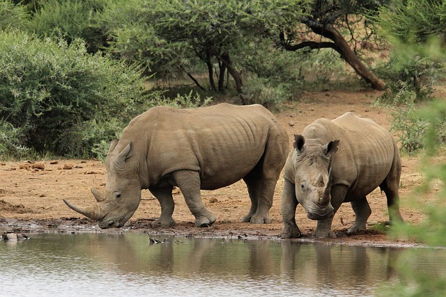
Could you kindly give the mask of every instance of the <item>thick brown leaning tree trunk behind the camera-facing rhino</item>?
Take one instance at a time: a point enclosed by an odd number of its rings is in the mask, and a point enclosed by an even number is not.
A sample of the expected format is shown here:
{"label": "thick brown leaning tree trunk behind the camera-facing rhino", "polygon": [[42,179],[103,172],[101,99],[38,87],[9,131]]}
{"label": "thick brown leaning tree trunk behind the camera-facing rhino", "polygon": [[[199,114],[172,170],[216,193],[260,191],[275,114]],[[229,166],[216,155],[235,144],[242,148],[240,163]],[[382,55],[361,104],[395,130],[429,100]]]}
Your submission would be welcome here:
{"label": "thick brown leaning tree trunk behind the camera-facing rhino", "polygon": [[346,61],[353,70],[362,77],[365,81],[371,84],[372,88],[376,90],[384,90],[385,83],[376,75],[367,68],[364,63],[360,61],[359,58],[355,55],[355,52],[348,46],[348,43],[344,39],[344,36],[341,35],[336,29],[332,26],[324,26],[322,29],[314,26],[310,26],[310,28],[319,35],[323,35],[325,38],[329,38],[334,42],[335,45],[339,48],[339,53],[341,53],[341,57]]}

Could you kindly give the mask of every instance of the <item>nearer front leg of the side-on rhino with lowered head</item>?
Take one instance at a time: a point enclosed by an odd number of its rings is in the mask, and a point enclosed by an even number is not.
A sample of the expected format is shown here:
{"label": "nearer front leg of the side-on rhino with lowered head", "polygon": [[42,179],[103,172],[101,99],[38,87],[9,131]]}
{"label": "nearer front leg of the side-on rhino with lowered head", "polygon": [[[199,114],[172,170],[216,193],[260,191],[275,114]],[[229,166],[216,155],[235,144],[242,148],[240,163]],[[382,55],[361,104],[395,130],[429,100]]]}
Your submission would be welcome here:
{"label": "nearer front leg of the side-on rhino with lowered head", "polygon": [[199,172],[192,170],[178,170],[172,173],[176,184],[183,193],[187,207],[195,217],[195,227],[208,227],[216,218],[204,207],[201,200],[201,182]]}

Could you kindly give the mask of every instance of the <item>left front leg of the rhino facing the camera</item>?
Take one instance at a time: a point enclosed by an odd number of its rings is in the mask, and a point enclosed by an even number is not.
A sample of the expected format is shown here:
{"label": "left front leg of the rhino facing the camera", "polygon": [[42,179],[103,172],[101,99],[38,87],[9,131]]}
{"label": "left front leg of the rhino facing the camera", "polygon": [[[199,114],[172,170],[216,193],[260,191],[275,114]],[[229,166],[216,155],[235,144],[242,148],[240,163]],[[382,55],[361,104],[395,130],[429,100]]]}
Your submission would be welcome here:
{"label": "left front leg of the rhino facing the camera", "polygon": [[282,192],[282,219],[284,229],[280,236],[283,239],[299,238],[301,236],[298,225],[295,223],[295,209],[298,207],[298,199],[295,197],[295,185],[289,180],[284,180]]}

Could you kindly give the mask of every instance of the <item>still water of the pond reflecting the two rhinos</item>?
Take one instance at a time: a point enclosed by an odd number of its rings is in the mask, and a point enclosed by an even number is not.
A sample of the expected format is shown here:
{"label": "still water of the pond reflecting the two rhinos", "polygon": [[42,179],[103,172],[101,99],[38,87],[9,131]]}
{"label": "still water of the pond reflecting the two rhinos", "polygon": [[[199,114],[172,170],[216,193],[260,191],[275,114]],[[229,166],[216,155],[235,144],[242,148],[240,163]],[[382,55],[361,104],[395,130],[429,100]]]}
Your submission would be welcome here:
{"label": "still water of the pond reflecting the two rhinos", "polygon": [[[147,234],[131,233],[31,234],[26,241],[0,241],[0,296],[373,296],[380,284],[398,280],[392,263],[403,250],[173,237],[151,244]],[[446,267],[445,250],[418,248],[416,254],[428,274]]]}

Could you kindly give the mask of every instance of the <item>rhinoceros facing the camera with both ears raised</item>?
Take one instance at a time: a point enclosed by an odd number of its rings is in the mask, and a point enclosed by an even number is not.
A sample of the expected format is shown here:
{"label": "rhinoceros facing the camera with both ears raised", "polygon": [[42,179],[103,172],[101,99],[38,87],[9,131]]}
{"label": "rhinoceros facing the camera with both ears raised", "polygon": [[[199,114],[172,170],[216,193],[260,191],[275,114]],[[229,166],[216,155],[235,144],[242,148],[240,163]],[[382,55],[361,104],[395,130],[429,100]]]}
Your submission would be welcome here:
{"label": "rhinoceros facing the camera with both ears raised", "polygon": [[[331,168],[331,170],[330,170]],[[295,135],[284,168],[282,238],[298,238],[298,204],[317,220],[316,237],[335,237],[332,219],[351,202],[355,223],[349,234],[366,230],[371,214],[366,196],[378,186],[387,196],[390,220],[399,213],[401,158],[392,135],[374,121],[345,113],[332,121],[318,119]]]}

